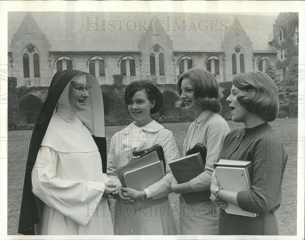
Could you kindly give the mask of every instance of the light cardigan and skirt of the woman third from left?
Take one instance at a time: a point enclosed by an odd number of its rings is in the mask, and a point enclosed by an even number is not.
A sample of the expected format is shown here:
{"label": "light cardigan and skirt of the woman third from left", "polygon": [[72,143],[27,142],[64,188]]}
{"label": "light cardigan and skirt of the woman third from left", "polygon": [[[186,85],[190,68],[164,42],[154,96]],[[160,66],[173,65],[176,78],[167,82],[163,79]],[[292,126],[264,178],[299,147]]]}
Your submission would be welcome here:
{"label": "light cardigan and skirt of the woman third from left", "polygon": [[[204,172],[190,180],[195,192],[210,191],[214,163],[217,162],[224,137],[229,131],[228,123],[211,110],[205,110],[190,125],[183,144],[183,155],[196,143],[203,144],[207,149]],[[180,194],[179,203],[181,235],[217,235],[218,210],[210,199],[187,204]]]}

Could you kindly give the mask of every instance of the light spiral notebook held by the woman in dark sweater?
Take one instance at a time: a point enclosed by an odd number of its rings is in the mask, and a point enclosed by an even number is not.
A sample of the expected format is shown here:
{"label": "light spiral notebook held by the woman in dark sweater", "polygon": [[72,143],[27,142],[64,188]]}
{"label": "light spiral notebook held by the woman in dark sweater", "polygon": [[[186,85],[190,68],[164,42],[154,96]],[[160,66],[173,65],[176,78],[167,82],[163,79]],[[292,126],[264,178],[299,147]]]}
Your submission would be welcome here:
{"label": "light spiral notebook held by the woman in dark sweater", "polygon": [[[232,160],[234,161],[234,160]],[[216,167],[216,176],[219,181],[220,187],[224,190],[239,192],[251,190],[251,180],[248,168],[239,167]],[[232,203],[228,203],[225,209],[226,213],[242,215],[248,217],[257,217],[257,213],[251,213],[242,210],[240,207]]]}

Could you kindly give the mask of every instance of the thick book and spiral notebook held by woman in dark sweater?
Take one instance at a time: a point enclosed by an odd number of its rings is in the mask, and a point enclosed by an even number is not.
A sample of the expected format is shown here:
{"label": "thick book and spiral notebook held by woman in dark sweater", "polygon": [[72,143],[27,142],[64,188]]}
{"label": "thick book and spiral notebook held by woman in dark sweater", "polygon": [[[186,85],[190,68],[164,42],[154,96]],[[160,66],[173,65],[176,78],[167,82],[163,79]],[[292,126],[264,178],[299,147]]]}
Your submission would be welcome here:
{"label": "thick book and spiral notebook held by woman in dark sweater", "polygon": [[[239,192],[251,190],[252,162],[220,159],[214,164],[215,173],[224,190]],[[251,213],[242,210],[232,203],[228,203],[225,208],[226,213],[242,215],[248,217],[257,217],[257,213]]]}

